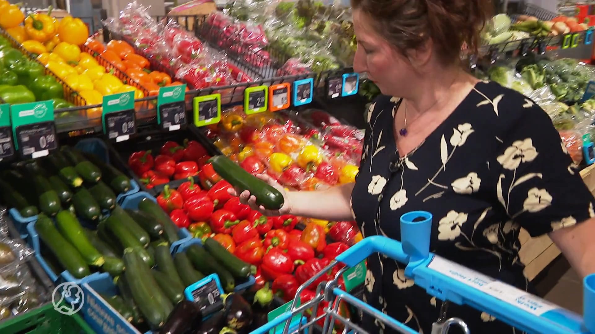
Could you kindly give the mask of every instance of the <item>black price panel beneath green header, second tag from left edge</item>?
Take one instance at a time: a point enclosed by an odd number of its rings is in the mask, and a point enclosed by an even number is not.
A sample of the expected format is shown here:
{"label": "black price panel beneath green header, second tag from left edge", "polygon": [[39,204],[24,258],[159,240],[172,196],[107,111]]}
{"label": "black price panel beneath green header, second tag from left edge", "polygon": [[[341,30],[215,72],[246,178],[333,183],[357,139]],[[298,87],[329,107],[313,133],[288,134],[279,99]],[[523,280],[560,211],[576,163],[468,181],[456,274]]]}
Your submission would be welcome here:
{"label": "black price panel beneath green header, second tag from left edge", "polygon": [[21,125],[16,128],[16,131],[18,147],[23,157],[35,159],[46,156],[58,148],[54,122]]}

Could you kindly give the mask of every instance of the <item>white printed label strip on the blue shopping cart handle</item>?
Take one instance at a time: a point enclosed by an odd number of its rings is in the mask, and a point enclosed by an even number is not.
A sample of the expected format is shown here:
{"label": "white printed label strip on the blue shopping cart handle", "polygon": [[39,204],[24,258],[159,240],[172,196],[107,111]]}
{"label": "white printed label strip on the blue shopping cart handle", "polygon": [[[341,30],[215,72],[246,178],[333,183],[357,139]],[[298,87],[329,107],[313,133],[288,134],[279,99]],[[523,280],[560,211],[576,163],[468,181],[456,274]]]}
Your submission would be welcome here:
{"label": "white printed label strip on the blue shopping cart handle", "polygon": [[465,285],[472,286],[491,297],[514,305],[521,310],[534,314],[535,316],[541,316],[541,314],[544,314],[547,311],[559,308],[557,305],[531,295],[526,291],[496,281],[490,276],[483,275],[482,273],[478,273],[475,270],[461,266],[461,264],[446,260],[439,256],[434,256],[434,259],[428,264],[428,268],[464,283]]}

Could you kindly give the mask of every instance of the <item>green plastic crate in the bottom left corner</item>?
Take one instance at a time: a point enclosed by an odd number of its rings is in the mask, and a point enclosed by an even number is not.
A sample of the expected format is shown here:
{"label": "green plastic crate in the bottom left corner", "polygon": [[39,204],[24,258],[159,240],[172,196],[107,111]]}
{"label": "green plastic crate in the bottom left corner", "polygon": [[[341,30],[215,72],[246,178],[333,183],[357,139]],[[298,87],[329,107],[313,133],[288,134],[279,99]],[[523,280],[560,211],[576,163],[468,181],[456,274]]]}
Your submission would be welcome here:
{"label": "green plastic crate in the bottom left corner", "polygon": [[75,334],[95,332],[84,322],[78,314],[66,316],[56,310],[54,305],[46,305],[28,311],[4,322],[0,322],[0,333],[2,334]]}

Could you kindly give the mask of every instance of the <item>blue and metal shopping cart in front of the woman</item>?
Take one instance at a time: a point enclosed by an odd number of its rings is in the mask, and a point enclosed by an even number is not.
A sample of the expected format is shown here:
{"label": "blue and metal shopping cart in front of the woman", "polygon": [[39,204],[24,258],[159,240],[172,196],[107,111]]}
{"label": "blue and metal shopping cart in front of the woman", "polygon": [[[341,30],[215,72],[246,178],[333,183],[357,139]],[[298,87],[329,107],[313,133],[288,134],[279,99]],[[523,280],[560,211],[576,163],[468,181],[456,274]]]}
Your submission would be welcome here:
{"label": "blue and metal shopping cart in front of the woman", "polygon": [[[342,301],[374,316],[385,326],[398,332],[417,333],[338,287],[338,279],[347,269],[374,253],[384,254],[406,264],[405,276],[414,279],[415,284],[424,288],[428,294],[446,301],[443,305],[469,305],[528,333],[595,333],[595,274],[584,279],[583,319],[558,305],[430,253],[431,221],[432,215],[428,212],[409,212],[400,219],[401,242],[374,236],[353,245],[322,269],[320,275],[312,277],[297,289],[296,296],[299,296],[306,286],[323,273],[339,263],[345,264],[333,281],[320,283],[317,297],[302,305],[299,305],[296,298],[288,311],[252,333],[313,333],[315,324],[322,319],[322,333],[331,333],[336,322],[344,324],[343,333],[367,333],[341,316],[339,304]],[[318,315],[318,305],[322,301],[327,301],[328,306],[324,308],[323,314]],[[303,316],[311,308],[311,316]],[[433,324],[432,334],[447,333],[452,326],[459,326],[465,333],[469,333],[463,320],[442,317]]]}

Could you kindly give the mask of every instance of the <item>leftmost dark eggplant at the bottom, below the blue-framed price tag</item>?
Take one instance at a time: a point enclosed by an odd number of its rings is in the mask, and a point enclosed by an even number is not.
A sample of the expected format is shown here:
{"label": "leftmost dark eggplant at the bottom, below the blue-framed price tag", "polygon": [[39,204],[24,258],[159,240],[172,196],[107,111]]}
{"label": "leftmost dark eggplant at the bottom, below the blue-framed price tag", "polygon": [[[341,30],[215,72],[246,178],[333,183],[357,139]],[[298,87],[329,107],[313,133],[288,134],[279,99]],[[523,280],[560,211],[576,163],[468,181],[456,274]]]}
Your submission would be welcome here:
{"label": "leftmost dark eggplant at the bottom, below the blue-framed price tag", "polygon": [[183,300],[171,311],[159,334],[192,334],[201,326],[202,313],[198,304]]}

